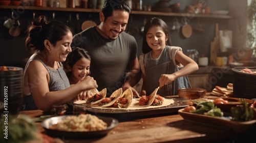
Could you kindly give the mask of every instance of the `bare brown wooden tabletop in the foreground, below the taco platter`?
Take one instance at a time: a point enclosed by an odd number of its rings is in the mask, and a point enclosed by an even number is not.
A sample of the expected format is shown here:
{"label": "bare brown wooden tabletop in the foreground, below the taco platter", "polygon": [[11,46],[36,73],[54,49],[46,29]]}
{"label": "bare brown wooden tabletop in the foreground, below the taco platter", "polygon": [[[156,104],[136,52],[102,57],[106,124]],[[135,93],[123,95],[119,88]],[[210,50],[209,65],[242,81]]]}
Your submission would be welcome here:
{"label": "bare brown wooden tabletop in the foreground, below the taco platter", "polygon": [[[44,115],[41,110],[20,111],[19,115],[31,118]],[[40,125],[38,123],[38,125]],[[255,128],[253,129],[255,130]],[[42,130],[44,131],[44,130]],[[252,130],[251,130],[252,131]],[[249,135],[249,137],[248,137]],[[255,133],[254,133],[255,135]],[[183,120],[177,113],[161,117],[120,122],[106,136],[94,139],[70,139],[65,142],[232,142],[234,139],[251,139],[250,131],[237,134],[230,129],[201,125]],[[255,137],[254,137],[255,139]],[[246,141],[245,141],[246,142]]]}

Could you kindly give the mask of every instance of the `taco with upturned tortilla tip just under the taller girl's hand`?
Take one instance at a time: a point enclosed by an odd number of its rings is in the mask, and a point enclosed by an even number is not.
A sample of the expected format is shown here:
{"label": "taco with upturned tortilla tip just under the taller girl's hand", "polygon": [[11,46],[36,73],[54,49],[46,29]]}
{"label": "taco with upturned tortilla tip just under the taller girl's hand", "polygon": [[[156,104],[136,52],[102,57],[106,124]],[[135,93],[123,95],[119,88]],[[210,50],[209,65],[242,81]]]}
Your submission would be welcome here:
{"label": "taco with upturned tortilla tip just under the taller girl's hand", "polygon": [[147,107],[147,106],[150,106],[155,100],[158,89],[159,89],[159,87],[157,89],[155,89],[155,91],[149,96],[146,96],[146,95],[141,96],[138,99],[139,102],[136,102],[131,106],[132,107]]}

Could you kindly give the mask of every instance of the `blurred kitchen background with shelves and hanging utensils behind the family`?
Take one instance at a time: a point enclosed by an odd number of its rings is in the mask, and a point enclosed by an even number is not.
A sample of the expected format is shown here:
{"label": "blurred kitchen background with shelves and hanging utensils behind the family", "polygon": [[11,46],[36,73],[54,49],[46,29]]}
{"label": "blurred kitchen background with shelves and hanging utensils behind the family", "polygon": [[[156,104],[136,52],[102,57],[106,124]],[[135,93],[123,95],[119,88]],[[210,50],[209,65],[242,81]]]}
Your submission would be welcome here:
{"label": "blurred kitchen background with shelves and hanging utensils behind the family", "polygon": [[[132,7],[126,32],[137,40],[138,56],[145,21],[162,18],[172,28],[172,44],[182,47],[200,66],[199,71],[188,76],[194,88],[210,92],[216,85],[226,87],[232,83],[232,67],[256,66],[255,0],[126,2]],[[25,49],[25,31],[34,17],[46,15],[62,21],[76,34],[100,23],[103,3],[101,0],[0,0],[0,66],[25,67],[30,54]]]}

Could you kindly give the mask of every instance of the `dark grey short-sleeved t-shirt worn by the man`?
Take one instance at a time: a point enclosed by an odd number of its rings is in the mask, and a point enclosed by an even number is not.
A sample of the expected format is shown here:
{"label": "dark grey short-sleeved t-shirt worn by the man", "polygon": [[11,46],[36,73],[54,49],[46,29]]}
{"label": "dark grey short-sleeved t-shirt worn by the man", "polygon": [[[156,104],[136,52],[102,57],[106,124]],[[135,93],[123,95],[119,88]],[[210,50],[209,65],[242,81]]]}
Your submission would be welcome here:
{"label": "dark grey short-sleeved t-shirt worn by the man", "polygon": [[107,96],[122,87],[127,65],[137,57],[138,46],[133,36],[122,32],[116,40],[102,37],[96,26],[73,37],[72,46],[86,49],[91,56],[91,76],[98,91],[106,88]]}

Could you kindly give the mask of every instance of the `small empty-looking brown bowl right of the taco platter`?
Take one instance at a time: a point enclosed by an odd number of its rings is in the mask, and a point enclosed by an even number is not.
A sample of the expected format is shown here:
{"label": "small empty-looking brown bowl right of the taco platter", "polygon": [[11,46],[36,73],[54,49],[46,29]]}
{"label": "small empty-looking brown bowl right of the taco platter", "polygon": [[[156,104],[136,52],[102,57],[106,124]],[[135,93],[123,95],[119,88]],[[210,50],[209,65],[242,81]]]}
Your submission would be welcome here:
{"label": "small empty-looking brown bowl right of the taco platter", "polygon": [[184,99],[198,99],[204,98],[206,94],[205,89],[200,88],[182,88],[178,89],[178,95],[180,98]]}

